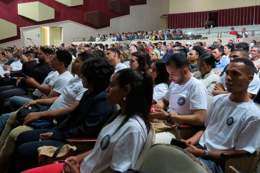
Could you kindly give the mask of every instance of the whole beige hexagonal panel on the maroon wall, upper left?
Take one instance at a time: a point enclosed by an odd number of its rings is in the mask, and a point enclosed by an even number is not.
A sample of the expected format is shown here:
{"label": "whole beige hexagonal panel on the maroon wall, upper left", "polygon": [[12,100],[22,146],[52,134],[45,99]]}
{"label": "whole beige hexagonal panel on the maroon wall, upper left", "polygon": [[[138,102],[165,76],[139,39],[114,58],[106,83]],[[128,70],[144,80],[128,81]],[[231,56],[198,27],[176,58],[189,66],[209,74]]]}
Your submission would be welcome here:
{"label": "whole beige hexagonal panel on the maroon wall, upper left", "polygon": [[18,14],[37,22],[54,19],[54,9],[39,2],[18,4]]}

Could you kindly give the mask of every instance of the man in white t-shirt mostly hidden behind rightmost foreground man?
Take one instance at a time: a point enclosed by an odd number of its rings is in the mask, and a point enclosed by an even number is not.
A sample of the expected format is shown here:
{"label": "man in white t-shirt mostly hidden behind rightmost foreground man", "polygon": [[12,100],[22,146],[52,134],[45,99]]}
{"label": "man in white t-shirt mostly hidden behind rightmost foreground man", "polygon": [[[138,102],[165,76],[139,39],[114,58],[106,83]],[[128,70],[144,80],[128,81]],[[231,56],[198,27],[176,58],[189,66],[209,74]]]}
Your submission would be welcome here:
{"label": "man in white t-shirt mostly hidden behind rightmost foreground man", "polygon": [[[230,62],[233,61],[235,58],[246,58],[245,50],[234,50],[230,55]],[[228,67],[228,66],[227,66]],[[227,68],[225,67],[225,68]],[[255,67],[254,67],[255,69]],[[218,80],[218,83],[215,85],[214,89],[212,90],[212,95],[216,96],[219,94],[228,94],[229,92],[226,90],[226,81],[225,81],[226,73],[224,73],[221,78]],[[248,86],[248,96],[253,99],[260,88],[260,78],[257,74],[254,74],[254,78],[252,82],[250,82]]]}

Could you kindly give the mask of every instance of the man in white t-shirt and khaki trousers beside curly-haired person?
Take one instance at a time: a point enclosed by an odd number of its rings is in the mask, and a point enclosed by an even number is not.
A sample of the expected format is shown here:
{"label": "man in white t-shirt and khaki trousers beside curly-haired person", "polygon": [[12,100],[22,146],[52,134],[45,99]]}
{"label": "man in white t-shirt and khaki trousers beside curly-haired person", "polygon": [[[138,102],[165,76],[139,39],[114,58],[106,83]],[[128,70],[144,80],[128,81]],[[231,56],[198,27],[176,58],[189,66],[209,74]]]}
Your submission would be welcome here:
{"label": "man in white t-shirt and khaki trousers beside curly-haired person", "polygon": [[[81,54],[83,54],[84,56],[81,56]],[[59,124],[66,118],[66,116],[70,112],[72,112],[79,105],[79,100],[83,96],[83,93],[87,90],[83,88],[82,80],[80,77],[78,77],[81,76],[80,68],[83,64],[83,61],[85,61],[87,58],[94,57],[94,55],[87,52],[83,52],[81,54],[78,55],[76,61],[74,61],[72,65],[71,71],[75,74],[75,77],[71,79],[64,87],[62,95],[60,95],[60,97],[33,100],[24,105],[28,107],[36,103],[44,105],[52,104],[49,111],[29,113],[25,117],[24,125],[36,121],[40,118],[55,118],[57,124]],[[29,125],[16,127],[15,117],[16,114],[12,114],[9,117],[8,123],[5,125],[5,133],[2,133],[0,137],[0,148],[2,151],[0,152],[0,168],[3,167],[3,165],[7,164],[6,158],[9,158],[10,155],[13,153],[15,143],[12,142],[16,141],[17,136],[23,131],[33,130],[33,128]],[[14,127],[16,128],[13,129]],[[9,133],[12,133],[12,135],[9,135]]]}

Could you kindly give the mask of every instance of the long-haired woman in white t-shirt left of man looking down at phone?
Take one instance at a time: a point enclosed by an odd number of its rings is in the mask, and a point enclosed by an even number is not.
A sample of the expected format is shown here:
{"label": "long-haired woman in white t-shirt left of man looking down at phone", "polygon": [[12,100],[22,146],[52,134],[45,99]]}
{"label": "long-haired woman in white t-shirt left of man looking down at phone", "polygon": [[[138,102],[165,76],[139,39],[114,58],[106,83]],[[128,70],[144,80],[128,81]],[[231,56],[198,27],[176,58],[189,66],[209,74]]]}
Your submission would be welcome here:
{"label": "long-haired woman in white t-shirt left of man looking down at phone", "polygon": [[169,89],[169,73],[166,71],[166,63],[164,60],[157,59],[152,63],[149,70],[153,78],[153,103],[156,104],[162,100],[165,93]]}

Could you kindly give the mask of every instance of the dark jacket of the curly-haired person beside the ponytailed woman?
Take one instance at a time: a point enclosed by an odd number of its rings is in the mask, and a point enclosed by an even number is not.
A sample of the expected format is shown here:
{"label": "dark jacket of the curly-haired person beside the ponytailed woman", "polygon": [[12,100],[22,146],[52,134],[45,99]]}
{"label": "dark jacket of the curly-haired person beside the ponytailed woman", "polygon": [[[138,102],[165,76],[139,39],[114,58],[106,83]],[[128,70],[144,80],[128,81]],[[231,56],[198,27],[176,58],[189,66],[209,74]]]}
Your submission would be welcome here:
{"label": "dark jacket of the curly-haired person beside the ponytailed woman", "polygon": [[79,106],[55,127],[51,140],[65,142],[70,138],[97,138],[103,125],[114,114],[114,105],[108,104],[105,96],[105,91],[86,91]]}

